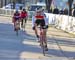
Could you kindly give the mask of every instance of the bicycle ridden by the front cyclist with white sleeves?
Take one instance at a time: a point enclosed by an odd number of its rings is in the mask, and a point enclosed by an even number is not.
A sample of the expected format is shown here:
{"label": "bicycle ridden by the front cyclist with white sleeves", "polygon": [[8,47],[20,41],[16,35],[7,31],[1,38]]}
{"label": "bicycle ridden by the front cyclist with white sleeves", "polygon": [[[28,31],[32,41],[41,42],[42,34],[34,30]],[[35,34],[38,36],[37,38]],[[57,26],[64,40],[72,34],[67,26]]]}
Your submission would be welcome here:
{"label": "bicycle ridden by the front cyclist with white sleeves", "polygon": [[39,29],[40,29],[40,46],[41,46],[41,48],[42,48],[42,50],[43,50],[43,55],[45,56],[45,49],[46,49],[46,44],[45,44],[45,38],[44,38],[44,36],[43,36],[43,31],[42,31],[42,27],[40,26],[39,27]]}

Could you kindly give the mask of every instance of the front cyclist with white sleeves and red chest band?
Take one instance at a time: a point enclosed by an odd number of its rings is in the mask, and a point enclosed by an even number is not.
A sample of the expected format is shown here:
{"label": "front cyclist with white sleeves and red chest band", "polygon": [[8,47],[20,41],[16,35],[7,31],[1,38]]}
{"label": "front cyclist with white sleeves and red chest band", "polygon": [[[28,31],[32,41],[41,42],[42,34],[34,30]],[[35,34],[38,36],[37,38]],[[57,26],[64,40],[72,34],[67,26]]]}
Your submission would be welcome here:
{"label": "front cyclist with white sleeves and red chest band", "polygon": [[35,31],[37,38],[39,38],[38,29],[37,29],[38,25],[42,26],[42,30],[43,30],[43,34],[44,34],[44,38],[45,38],[45,44],[46,44],[45,47],[46,47],[46,50],[48,50],[47,39],[46,39],[46,31],[48,28],[48,19],[46,18],[46,15],[43,13],[43,10],[41,10],[41,9],[36,10],[35,15],[32,17],[32,28]]}

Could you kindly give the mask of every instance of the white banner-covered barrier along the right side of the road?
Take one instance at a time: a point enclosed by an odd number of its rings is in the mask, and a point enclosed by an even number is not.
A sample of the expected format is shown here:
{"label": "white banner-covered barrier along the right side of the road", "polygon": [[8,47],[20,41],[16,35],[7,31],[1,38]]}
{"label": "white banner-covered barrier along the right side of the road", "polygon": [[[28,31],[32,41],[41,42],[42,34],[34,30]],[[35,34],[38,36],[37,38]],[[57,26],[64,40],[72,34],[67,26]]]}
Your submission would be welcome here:
{"label": "white banner-covered barrier along the right side of the road", "polygon": [[47,13],[46,15],[49,17],[49,24],[53,24],[58,29],[75,34],[75,17],[51,13]]}

